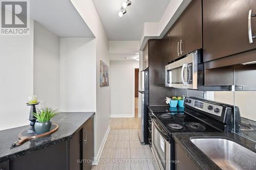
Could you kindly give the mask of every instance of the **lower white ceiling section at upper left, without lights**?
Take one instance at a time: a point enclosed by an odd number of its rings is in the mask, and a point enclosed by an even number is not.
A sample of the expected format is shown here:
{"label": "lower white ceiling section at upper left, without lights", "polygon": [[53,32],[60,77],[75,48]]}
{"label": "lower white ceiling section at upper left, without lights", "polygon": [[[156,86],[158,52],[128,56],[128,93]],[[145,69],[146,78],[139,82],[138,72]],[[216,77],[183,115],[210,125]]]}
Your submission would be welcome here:
{"label": "lower white ceiling section at upper left, without lights", "polygon": [[58,37],[94,37],[70,0],[30,1],[30,17]]}

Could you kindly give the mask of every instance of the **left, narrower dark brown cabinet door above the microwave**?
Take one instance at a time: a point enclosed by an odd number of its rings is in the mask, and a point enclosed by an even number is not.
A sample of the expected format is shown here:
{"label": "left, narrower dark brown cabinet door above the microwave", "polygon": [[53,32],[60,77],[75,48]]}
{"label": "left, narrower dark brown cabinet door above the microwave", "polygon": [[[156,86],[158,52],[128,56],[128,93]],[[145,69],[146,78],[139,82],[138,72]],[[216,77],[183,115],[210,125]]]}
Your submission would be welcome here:
{"label": "left, narrower dark brown cabinet door above the microwave", "polygon": [[181,57],[180,54],[180,40],[181,40],[181,20],[180,18],[176,20],[174,26],[170,29],[169,34],[169,44],[170,44],[170,61],[178,59]]}

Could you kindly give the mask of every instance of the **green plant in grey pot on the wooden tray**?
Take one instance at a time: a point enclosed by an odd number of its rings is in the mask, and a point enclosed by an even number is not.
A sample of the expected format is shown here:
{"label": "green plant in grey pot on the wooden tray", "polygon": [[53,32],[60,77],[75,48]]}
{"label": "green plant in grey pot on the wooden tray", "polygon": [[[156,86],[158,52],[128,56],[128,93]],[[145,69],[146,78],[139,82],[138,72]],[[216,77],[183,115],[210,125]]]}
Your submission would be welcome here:
{"label": "green plant in grey pot on the wooden tray", "polygon": [[42,108],[37,113],[33,113],[36,117],[35,131],[37,134],[49,132],[52,126],[51,118],[58,113],[57,109]]}

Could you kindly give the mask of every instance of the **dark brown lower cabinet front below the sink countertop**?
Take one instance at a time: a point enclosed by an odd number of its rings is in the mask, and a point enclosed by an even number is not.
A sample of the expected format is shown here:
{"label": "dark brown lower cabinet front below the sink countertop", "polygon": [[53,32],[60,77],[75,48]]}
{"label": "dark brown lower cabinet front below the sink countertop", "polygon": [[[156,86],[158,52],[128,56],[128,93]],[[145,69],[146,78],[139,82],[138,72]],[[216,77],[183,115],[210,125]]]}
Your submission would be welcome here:
{"label": "dark brown lower cabinet front below the sink countertop", "polygon": [[179,163],[175,164],[175,170],[199,170],[196,164],[191,161],[187,154],[180,148],[180,145],[175,142],[175,160],[179,160]]}

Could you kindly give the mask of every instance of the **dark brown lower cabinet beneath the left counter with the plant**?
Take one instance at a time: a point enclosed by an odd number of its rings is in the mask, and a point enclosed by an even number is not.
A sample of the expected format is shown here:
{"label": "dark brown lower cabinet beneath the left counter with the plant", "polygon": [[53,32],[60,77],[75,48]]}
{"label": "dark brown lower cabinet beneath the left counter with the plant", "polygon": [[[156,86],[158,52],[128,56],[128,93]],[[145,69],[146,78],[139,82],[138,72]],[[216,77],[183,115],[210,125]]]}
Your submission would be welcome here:
{"label": "dark brown lower cabinet beneath the left counter with the plant", "polygon": [[0,169],[90,170],[94,157],[93,143],[92,116],[70,140],[2,162],[0,163]]}

